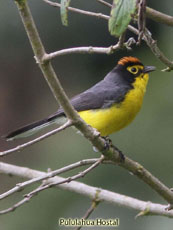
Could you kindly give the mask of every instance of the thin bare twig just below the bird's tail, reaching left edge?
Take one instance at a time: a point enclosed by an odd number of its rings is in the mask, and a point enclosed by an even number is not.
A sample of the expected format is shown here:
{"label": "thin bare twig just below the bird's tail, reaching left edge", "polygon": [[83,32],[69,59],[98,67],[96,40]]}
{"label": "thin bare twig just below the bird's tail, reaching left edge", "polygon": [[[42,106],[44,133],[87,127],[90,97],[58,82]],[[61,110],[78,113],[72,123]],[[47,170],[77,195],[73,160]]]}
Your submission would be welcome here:
{"label": "thin bare twig just below the bird's tail, reaching left edge", "polygon": [[20,150],[22,150],[22,149],[24,149],[24,148],[26,148],[28,146],[31,146],[31,145],[33,145],[35,143],[38,143],[38,142],[40,142],[40,141],[42,141],[42,140],[44,140],[44,139],[46,139],[46,138],[48,138],[48,137],[50,137],[52,135],[55,135],[56,133],[59,133],[60,131],[66,129],[66,128],[72,126],[72,125],[73,125],[73,122],[71,120],[68,120],[65,124],[63,124],[62,126],[58,127],[57,129],[54,129],[54,130],[52,130],[52,131],[50,131],[50,132],[48,132],[48,133],[46,133],[46,134],[44,134],[44,135],[42,135],[40,137],[37,137],[34,140],[28,141],[28,142],[26,142],[26,143],[24,143],[22,145],[18,145],[15,148],[0,152],[0,157],[9,155],[9,154],[14,153],[14,152],[18,152],[18,151],[20,151]]}

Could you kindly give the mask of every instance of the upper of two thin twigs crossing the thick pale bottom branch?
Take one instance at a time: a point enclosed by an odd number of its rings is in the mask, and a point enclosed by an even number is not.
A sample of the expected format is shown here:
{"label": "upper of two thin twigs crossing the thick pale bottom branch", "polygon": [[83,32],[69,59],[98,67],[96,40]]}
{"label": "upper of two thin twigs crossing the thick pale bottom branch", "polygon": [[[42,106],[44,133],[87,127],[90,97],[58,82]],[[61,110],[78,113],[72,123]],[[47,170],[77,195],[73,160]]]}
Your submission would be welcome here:
{"label": "upper of two thin twigs crossing the thick pale bottom branch", "polygon": [[97,162],[99,159],[86,159],[86,160],[81,160],[81,161],[78,161],[76,163],[73,163],[73,164],[70,164],[68,166],[65,166],[63,168],[60,168],[60,169],[56,169],[54,171],[51,171],[51,172],[48,172],[46,173],[45,175],[42,175],[40,177],[36,177],[36,178],[33,178],[31,180],[28,180],[28,181],[25,181],[25,182],[22,182],[22,183],[18,183],[16,184],[16,186],[10,190],[8,190],[7,192],[4,192],[3,194],[0,195],[0,200],[16,193],[16,192],[19,192],[21,190],[23,190],[25,187],[33,184],[33,183],[36,183],[36,182],[39,182],[39,181],[42,181],[42,180],[45,180],[47,178],[51,178],[51,177],[54,177],[56,175],[59,175],[61,173],[64,173],[64,172],[68,172],[74,168],[78,168],[78,167],[81,167],[81,166],[84,166],[84,165],[88,165],[88,164],[94,164],[95,162]]}

